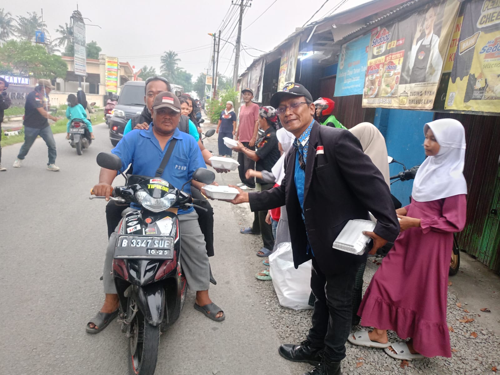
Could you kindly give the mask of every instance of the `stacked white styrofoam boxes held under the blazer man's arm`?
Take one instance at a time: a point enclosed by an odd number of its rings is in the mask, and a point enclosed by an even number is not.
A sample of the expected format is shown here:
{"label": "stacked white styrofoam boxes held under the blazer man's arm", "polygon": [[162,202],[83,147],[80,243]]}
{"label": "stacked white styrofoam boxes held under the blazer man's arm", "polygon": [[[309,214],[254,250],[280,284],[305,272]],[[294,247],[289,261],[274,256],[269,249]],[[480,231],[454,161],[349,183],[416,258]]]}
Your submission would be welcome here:
{"label": "stacked white styrofoam boxes held under the blazer man's arm", "polygon": [[375,223],[370,220],[349,220],[333,242],[333,248],[351,254],[362,255],[366,242],[370,239],[363,230],[373,231]]}

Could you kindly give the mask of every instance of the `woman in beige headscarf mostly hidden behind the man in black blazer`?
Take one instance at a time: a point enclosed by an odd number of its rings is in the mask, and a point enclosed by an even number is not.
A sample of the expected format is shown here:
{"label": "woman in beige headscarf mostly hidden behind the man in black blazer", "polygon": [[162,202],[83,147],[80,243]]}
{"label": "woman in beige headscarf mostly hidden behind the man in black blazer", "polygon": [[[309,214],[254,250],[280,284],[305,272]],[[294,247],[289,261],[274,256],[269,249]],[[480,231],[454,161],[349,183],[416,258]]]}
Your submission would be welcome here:
{"label": "woman in beige headscarf mostly hidden behind the man in black blazer", "polygon": [[[382,173],[383,179],[387,186],[390,188],[389,180],[389,163],[387,161],[387,147],[385,146],[385,139],[380,132],[370,122],[361,122],[356,126],[351,127],[349,131],[359,139],[363,152],[367,154],[373,164]],[[352,297],[352,325],[359,324],[359,316],[356,314],[359,304],[361,303],[361,296],[363,294],[363,275],[366,262],[359,265],[354,282],[354,294]]]}

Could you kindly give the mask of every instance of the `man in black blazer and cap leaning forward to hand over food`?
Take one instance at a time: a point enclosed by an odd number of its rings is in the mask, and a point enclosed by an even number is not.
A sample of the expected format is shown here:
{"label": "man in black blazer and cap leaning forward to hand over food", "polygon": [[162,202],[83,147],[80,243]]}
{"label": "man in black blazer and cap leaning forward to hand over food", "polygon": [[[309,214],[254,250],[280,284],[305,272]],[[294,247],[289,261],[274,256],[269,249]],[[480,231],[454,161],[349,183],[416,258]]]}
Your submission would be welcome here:
{"label": "man in black blazer and cap leaning forward to hand over food", "polygon": [[[299,344],[283,344],[279,354],[316,366],[308,375],[339,375],[352,318],[352,291],[357,268],[367,254],[332,248],[348,220],[377,219],[370,253],[399,233],[389,188],[382,174],[349,131],[314,121],[312,97],[301,84],[288,82],[274,93],[284,128],[296,140],[285,157],[281,186],[262,192],[239,190],[232,200],[249,202],[252,211],[286,205],[293,262],[312,259],[311,289],[316,299],[312,326]],[[305,374],[304,374],[305,375]]]}

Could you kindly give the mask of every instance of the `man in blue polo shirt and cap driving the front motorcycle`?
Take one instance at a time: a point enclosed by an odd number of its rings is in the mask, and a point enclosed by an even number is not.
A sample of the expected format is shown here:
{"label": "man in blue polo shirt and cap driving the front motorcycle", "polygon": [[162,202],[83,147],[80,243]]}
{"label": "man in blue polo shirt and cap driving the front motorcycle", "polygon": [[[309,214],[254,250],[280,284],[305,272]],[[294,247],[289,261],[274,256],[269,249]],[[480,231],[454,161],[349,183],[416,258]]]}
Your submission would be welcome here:
{"label": "man in blue polo shirt and cap driving the front motorcycle", "polygon": [[[204,168],[205,163],[194,138],[177,128],[179,119],[179,99],[168,91],[156,95],[152,105],[154,126],[149,126],[147,130],[135,129],[128,132],[111,150],[121,158],[120,171],[125,170],[128,164],[132,163],[134,174],[154,176],[172,139],[176,139],[176,143],[161,175],[162,178],[173,186],[181,188],[191,179],[197,168]],[[99,183],[93,187],[95,194],[106,196],[108,199],[115,176],[115,170],[101,168]],[[203,186],[202,183],[194,180],[191,183],[198,189]],[[186,184],[184,191],[190,193],[190,184]],[[212,303],[208,296],[210,271],[204,236],[198,225],[198,215],[192,207],[179,209],[177,214],[182,234],[180,237],[182,271],[189,288],[196,291],[194,307],[213,320],[223,320],[225,318],[223,311]],[[116,231],[109,237],[104,261],[103,284],[106,297],[100,312],[87,323],[86,330],[90,333],[102,330],[118,312],[118,296],[109,272],[112,266],[115,240]]]}

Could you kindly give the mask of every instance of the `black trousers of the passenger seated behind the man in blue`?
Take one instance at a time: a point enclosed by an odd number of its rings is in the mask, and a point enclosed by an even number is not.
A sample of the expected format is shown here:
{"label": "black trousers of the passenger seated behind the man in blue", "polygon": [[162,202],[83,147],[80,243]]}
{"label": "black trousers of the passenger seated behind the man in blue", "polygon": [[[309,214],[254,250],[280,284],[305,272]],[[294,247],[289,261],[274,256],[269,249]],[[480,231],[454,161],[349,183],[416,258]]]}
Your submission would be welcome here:
{"label": "black trousers of the passenger seated behind the man in blue", "polygon": [[[191,186],[191,194],[193,198],[204,199],[203,195],[201,195],[201,191]],[[121,220],[121,212],[128,207],[128,204],[123,204],[116,202],[114,200],[110,200],[106,205],[106,222],[107,222],[107,237],[114,232],[116,225]],[[205,211],[200,208],[196,208],[196,213],[198,214],[198,223],[201,229],[201,232],[205,236],[206,242],[206,253],[208,256],[213,256],[213,208],[210,203],[206,201],[205,208],[208,211]]]}

